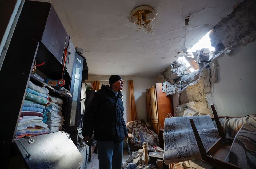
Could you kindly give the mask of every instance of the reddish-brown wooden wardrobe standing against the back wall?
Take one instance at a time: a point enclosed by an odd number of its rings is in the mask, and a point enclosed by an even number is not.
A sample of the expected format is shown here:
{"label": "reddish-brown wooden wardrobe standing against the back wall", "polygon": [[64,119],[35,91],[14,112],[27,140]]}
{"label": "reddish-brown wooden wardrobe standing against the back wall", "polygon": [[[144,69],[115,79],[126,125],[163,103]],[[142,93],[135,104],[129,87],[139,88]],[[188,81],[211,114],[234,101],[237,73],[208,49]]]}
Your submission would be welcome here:
{"label": "reddish-brown wooden wardrobe standing against the back wall", "polygon": [[167,115],[174,114],[172,96],[166,96],[166,92],[162,92],[162,83],[156,83],[155,86],[146,89],[146,104],[147,120],[155,133],[159,135],[160,147],[164,148],[160,130],[164,129]]}

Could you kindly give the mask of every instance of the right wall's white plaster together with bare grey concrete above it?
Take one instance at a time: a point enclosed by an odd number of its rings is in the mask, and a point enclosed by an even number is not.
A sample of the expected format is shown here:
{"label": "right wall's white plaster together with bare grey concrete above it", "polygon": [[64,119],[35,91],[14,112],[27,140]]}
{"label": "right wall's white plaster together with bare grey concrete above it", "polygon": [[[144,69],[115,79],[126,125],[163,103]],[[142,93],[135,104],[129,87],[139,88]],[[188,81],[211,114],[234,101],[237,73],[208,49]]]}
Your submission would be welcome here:
{"label": "right wall's white plaster together with bare grey concrete above it", "polygon": [[209,34],[211,45],[222,53],[212,94],[219,116],[255,114],[255,7],[256,1],[245,0]]}

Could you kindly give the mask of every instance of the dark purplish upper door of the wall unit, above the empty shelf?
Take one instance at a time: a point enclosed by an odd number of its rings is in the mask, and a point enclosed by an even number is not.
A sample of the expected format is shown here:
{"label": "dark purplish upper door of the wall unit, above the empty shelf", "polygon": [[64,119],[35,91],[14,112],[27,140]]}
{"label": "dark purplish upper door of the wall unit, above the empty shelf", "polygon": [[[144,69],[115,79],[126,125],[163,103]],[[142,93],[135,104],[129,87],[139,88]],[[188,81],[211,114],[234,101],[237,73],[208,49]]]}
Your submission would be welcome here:
{"label": "dark purplish upper door of the wall unit, above the empty shelf", "polygon": [[60,63],[62,63],[66,39],[67,32],[51,4],[41,42]]}

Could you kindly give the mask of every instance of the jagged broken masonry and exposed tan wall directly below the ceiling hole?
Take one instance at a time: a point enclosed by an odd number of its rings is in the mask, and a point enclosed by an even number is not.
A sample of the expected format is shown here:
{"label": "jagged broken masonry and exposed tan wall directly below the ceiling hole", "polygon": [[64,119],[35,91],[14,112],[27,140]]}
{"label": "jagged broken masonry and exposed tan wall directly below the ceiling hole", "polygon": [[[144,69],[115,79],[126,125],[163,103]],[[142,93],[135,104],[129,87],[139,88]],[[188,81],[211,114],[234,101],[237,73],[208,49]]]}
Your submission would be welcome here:
{"label": "jagged broken masonry and exposed tan wall directly below the ceiling hole", "polygon": [[178,104],[174,105],[177,107],[176,115],[182,107],[186,107],[185,114],[211,115],[206,96],[211,93],[212,83],[218,82],[218,63],[211,53],[208,48],[194,53],[199,65],[197,71],[189,73],[185,63],[177,61],[163,72],[167,80],[163,83],[163,92],[166,96],[178,93]]}

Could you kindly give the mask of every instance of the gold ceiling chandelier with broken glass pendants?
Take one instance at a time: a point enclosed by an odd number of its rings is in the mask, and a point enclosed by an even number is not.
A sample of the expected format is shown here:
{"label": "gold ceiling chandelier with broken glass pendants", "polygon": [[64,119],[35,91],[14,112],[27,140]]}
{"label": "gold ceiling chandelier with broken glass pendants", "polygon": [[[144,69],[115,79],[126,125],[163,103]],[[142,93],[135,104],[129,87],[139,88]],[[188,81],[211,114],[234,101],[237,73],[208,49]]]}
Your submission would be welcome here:
{"label": "gold ceiling chandelier with broken glass pendants", "polygon": [[143,30],[147,33],[153,34],[152,21],[157,17],[157,13],[149,6],[139,6],[135,8],[128,20],[136,24],[136,31],[143,27]]}

